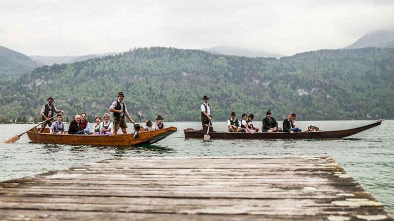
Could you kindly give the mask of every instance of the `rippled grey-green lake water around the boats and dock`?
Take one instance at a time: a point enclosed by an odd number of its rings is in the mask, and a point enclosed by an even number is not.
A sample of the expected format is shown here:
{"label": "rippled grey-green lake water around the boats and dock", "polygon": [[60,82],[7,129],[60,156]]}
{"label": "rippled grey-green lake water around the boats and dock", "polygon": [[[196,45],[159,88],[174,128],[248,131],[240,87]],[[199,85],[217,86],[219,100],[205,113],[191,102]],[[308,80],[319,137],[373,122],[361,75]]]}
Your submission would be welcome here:
{"label": "rippled grey-green lake water around the boats and dock", "polygon": [[[297,121],[324,131],[359,127],[374,121]],[[0,181],[48,170],[66,169],[113,157],[332,157],[361,186],[394,213],[394,120],[339,140],[211,140],[185,139],[183,130],[201,127],[200,122],[165,122],[178,131],[159,143],[133,147],[92,147],[31,143],[27,135],[13,144],[1,143]],[[214,122],[216,131],[226,131],[227,123]],[[281,124],[281,123],[280,123]],[[255,126],[261,127],[262,122]],[[131,125],[128,132],[131,132]],[[1,142],[20,134],[32,124],[0,125]],[[68,128],[68,126],[66,126]],[[121,131],[119,131],[121,132]]]}

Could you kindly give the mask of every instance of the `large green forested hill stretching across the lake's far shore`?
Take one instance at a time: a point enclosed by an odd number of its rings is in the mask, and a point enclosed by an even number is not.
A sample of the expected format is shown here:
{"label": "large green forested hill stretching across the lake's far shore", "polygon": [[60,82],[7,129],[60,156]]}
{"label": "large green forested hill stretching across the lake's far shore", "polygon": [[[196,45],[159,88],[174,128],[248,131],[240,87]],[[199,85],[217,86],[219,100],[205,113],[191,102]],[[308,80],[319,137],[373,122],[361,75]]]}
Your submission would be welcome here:
{"label": "large green forested hill stretching across the lake's far shore", "polygon": [[[66,111],[102,115],[123,91],[135,119],[199,120],[203,95],[215,120],[231,111],[262,120],[296,112],[299,120],[392,118],[394,49],[320,50],[250,58],[198,50],[141,48],[34,69],[0,82],[0,115],[38,117],[48,96]],[[372,117],[373,118],[373,117]]]}

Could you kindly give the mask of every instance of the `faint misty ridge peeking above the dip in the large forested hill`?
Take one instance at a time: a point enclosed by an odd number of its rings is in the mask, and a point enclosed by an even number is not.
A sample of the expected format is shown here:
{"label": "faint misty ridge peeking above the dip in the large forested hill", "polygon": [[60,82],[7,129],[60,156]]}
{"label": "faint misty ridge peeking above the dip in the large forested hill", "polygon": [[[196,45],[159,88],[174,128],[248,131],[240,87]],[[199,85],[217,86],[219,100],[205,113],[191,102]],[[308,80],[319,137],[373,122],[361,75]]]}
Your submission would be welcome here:
{"label": "faint misty ridge peeking above the dip in the large forested hill", "polygon": [[213,54],[221,54],[221,55],[237,55],[237,56],[245,56],[245,57],[276,57],[280,58],[284,55],[263,52],[263,51],[252,51],[248,49],[230,47],[230,46],[215,46],[210,48],[202,49],[203,51],[210,52]]}

